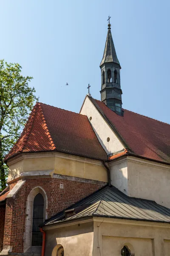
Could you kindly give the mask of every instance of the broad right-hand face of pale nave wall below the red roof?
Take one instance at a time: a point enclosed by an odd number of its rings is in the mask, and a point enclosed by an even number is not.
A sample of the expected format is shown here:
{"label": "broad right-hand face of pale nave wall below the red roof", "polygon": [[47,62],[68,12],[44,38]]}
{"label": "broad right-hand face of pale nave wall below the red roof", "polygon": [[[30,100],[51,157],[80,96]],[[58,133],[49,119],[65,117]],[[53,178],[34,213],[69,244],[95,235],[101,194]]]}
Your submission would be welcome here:
{"label": "broad right-hand face of pale nave wall below the red roof", "polygon": [[170,208],[170,166],[127,158],[129,196],[156,201]]}

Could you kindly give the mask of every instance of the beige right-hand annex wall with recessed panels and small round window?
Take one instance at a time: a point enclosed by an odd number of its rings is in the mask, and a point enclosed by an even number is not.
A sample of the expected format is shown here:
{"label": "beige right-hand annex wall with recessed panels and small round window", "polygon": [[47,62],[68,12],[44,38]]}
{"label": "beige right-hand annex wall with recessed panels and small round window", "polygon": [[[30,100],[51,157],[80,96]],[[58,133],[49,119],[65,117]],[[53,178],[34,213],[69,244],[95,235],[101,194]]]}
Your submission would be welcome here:
{"label": "beige right-hand annex wall with recessed panels and small round window", "polygon": [[103,218],[100,221],[96,218],[94,222],[93,256],[100,253],[101,256],[120,256],[124,245],[135,256],[170,255],[170,224],[116,219],[102,221]]}

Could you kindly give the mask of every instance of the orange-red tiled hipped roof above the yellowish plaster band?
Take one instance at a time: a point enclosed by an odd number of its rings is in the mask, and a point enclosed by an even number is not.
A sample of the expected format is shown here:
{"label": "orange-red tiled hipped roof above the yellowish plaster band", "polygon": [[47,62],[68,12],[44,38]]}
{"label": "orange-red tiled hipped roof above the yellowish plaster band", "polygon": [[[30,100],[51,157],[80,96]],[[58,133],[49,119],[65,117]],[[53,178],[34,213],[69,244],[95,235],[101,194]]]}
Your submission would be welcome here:
{"label": "orange-red tiled hipped roof above the yellowish plaster band", "polygon": [[42,151],[107,160],[87,116],[38,102],[19,140],[4,160],[21,152]]}

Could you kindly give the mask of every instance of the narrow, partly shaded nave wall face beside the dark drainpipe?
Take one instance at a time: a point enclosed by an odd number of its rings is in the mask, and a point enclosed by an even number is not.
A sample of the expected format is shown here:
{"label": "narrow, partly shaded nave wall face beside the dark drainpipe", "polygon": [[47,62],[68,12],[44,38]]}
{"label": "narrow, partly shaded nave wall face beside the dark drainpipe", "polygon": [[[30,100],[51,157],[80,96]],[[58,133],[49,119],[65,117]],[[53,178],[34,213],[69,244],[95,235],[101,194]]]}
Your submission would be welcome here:
{"label": "narrow, partly shaded nave wall face beside the dark drainpipe", "polygon": [[128,195],[128,175],[127,175],[127,160],[118,160],[111,162],[111,184],[117,189]]}

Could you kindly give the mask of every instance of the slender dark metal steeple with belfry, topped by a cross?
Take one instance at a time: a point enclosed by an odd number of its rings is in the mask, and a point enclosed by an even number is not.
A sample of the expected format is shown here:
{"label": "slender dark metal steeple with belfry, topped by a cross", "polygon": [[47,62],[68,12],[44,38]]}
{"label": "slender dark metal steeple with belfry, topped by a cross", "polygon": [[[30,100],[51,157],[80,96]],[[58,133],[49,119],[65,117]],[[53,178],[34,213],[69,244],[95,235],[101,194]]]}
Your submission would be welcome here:
{"label": "slender dark metal steeple with belfry, topped by a cross", "polygon": [[116,55],[110,22],[108,23],[108,35],[100,68],[102,81],[100,91],[101,101],[104,102],[108,108],[111,108],[115,113],[122,116],[122,90],[120,88],[121,66]]}

